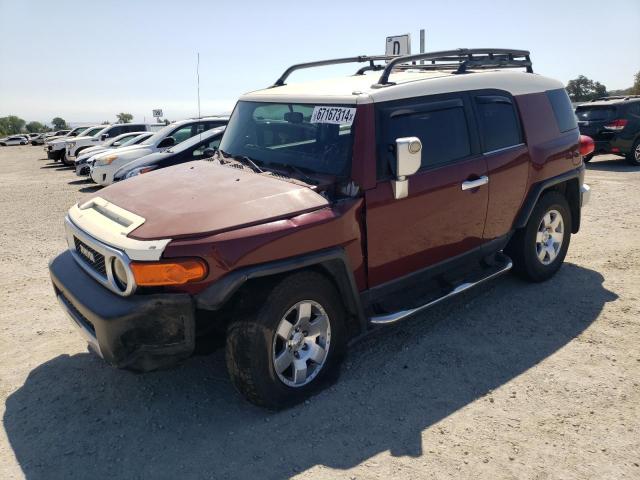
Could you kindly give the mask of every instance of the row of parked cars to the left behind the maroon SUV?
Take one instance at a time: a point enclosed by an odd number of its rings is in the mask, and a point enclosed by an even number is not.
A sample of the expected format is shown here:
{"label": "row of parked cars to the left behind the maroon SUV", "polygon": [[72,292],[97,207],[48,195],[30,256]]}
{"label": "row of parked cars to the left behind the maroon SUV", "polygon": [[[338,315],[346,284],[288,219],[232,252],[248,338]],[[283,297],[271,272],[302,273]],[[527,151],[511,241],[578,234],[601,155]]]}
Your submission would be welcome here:
{"label": "row of parked cars to the left behind the maroon SUV", "polygon": [[126,123],[78,127],[46,142],[51,160],[76,174],[110,185],[142,173],[215,154],[229,118],[212,116],[164,124]]}

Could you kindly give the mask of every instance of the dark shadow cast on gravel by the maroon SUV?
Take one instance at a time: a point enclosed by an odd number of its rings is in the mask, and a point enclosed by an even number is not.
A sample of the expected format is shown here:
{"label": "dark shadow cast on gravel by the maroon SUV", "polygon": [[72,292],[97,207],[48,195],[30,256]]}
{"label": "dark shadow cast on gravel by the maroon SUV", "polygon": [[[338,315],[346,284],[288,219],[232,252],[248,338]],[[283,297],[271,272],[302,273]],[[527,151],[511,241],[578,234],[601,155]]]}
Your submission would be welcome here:
{"label": "dark shadow cast on gravel by the maroon SUV", "polygon": [[617,298],[602,283],[572,264],[542,284],[502,277],[376,331],[338,383],[278,413],[234,392],[220,351],[144,375],[61,355],[9,396],[4,426],[28,479],[281,479],[386,450],[419,456],[423,430],[588,328]]}

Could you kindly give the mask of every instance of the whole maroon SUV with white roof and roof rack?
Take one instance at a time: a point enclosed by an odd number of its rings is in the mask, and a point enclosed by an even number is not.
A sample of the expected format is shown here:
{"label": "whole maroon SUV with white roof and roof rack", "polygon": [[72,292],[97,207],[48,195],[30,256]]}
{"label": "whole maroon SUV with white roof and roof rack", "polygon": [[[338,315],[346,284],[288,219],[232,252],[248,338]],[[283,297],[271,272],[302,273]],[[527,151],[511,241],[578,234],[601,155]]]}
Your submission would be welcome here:
{"label": "whole maroon SUV with white roof and roof rack", "polygon": [[224,335],[235,387],[281,408],[372,328],[512,267],[558,271],[593,149],[564,85],[518,50],[348,60],[387,63],[377,79],[287,85],[310,65],[290,67],[240,98],[215,160],[69,210],[49,268],[92,351],[150,370]]}

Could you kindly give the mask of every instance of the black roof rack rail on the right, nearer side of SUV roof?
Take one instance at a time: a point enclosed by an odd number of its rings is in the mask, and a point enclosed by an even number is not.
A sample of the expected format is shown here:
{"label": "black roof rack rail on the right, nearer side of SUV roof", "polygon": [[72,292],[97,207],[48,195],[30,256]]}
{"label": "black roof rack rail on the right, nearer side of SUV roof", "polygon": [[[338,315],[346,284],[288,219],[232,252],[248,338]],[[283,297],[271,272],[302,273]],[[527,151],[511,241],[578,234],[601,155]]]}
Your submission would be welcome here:
{"label": "black roof rack rail on the right, nearer side of SUV roof", "polygon": [[[404,55],[402,57],[394,57],[387,63],[378,83],[374,87],[383,87],[393,85],[389,82],[389,76],[394,68],[401,64],[416,62],[418,60],[431,60],[431,68],[445,67],[452,68],[458,66],[456,73],[465,73],[467,68],[517,68],[524,67],[528,73],[533,73],[531,59],[528,50],[511,50],[505,48],[459,48],[457,50],[443,50],[440,52],[418,53],[415,55]],[[518,60],[517,57],[522,58]],[[436,62],[449,62],[445,65],[438,65]],[[411,65],[404,68],[420,68],[423,64]]]}

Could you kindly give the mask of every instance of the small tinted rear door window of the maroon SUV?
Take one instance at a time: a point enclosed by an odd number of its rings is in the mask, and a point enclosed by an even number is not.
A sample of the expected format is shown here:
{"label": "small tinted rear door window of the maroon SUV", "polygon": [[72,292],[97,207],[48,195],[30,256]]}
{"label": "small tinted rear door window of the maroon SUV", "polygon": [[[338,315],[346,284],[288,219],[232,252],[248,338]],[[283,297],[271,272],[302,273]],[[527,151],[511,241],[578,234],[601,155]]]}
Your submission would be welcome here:
{"label": "small tinted rear door window of the maroon SUV", "polygon": [[483,151],[492,152],[522,143],[518,114],[509,97],[475,97]]}

